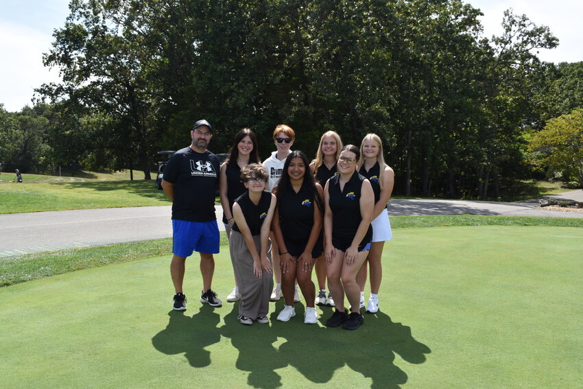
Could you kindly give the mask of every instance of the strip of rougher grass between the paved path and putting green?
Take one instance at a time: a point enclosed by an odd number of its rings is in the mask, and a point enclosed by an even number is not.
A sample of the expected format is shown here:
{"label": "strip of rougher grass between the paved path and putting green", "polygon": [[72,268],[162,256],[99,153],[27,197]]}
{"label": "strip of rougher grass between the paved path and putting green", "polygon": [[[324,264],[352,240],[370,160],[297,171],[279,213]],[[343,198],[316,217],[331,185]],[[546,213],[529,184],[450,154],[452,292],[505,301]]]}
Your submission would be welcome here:
{"label": "strip of rougher grass between the paved path and putting green", "polygon": [[[392,228],[442,226],[562,226],[583,227],[583,219],[567,217],[511,217],[481,215],[427,215],[391,217]],[[221,233],[221,243],[228,244]],[[55,274],[95,268],[156,255],[170,255],[171,239],[112,244],[90,248],[72,248],[0,259],[0,286],[12,285]],[[222,250],[228,250],[226,247]]]}

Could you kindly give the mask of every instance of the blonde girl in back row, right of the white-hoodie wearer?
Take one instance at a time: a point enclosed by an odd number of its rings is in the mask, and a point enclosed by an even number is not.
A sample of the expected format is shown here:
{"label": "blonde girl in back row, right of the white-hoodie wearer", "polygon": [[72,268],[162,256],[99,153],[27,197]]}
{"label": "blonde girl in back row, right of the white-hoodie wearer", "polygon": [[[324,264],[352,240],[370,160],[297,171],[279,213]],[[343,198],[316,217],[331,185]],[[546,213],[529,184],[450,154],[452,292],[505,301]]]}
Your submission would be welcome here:
{"label": "blonde girl in back row, right of the white-hoodie wearer", "polygon": [[[320,145],[316,153],[316,159],[310,163],[310,170],[316,177],[316,181],[324,187],[326,181],[337,174],[336,162],[342,150],[342,139],[334,131],[324,132],[320,138]],[[318,279],[318,295],[316,305],[334,306],[332,294],[326,297],[326,260],[324,255],[316,260],[316,278]]]}

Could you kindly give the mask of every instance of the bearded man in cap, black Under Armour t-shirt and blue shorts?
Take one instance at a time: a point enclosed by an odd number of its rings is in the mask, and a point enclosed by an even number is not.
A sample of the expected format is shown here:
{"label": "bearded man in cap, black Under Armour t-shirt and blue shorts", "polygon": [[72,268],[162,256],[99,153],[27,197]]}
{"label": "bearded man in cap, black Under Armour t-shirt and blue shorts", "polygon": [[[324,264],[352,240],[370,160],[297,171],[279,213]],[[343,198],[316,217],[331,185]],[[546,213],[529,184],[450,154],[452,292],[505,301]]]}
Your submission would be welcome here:
{"label": "bearded man in cap, black Under Armour t-shirt and blue shorts", "polygon": [[174,309],[185,311],[186,296],[182,291],[185,262],[194,251],[200,254],[202,296],[200,301],[220,307],[221,300],[211,290],[215,259],[219,252],[219,227],[215,216],[215,189],[219,182],[219,158],[206,148],[211,141],[211,124],[206,120],[194,123],[190,132],[192,143],[178,150],[164,169],[162,188],[172,200],[172,235],[174,256],[170,274],[176,294]]}

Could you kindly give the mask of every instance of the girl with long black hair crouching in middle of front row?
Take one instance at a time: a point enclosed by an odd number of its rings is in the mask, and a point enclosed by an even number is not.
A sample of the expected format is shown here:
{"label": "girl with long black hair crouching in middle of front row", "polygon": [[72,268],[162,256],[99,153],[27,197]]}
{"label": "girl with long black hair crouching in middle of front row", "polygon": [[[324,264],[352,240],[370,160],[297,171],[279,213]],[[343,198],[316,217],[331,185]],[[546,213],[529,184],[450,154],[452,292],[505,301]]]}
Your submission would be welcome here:
{"label": "girl with long black hair crouching in middle of front row", "polygon": [[316,287],[311,281],[313,263],[324,250],[322,244],[322,214],[324,211],[322,186],[306,172],[308,158],[300,151],[289,154],[283,172],[274,188],[277,206],[273,232],[280,250],[281,290],[285,307],[277,320],[287,322],[296,316],[294,284],[296,280],[306,300],[304,322],[316,324],[318,314],[314,306]]}

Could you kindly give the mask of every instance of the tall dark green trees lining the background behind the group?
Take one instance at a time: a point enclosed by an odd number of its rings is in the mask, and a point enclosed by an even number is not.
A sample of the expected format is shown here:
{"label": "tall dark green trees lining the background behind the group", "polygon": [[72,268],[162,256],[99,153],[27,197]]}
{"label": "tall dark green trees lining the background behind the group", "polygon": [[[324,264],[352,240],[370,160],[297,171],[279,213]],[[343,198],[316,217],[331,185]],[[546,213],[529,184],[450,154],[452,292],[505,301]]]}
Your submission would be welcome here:
{"label": "tall dark green trees lining the background behind the group", "polygon": [[497,198],[515,180],[576,178],[576,167],[543,159],[553,146],[528,145],[551,119],[583,108],[583,63],[541,62],[537,50],[558,39],[512,10],[501,36],[485,38],[481,12],[455,0],[71,0],[69,8],[44,57],[62,82],[38,89],[33,108],[0,108],[10,119],[0,126],[21,128],[0,137],[40,139],[38,156],[2,150],[6,164],[131,167],[150,178],[156,152],[184,147],[192,123],[206,118],[211,150],[226,152],[250,127],[263,158],[279,123],[308,155],[327,130],[356,145],[377,133],[405,196]]}

